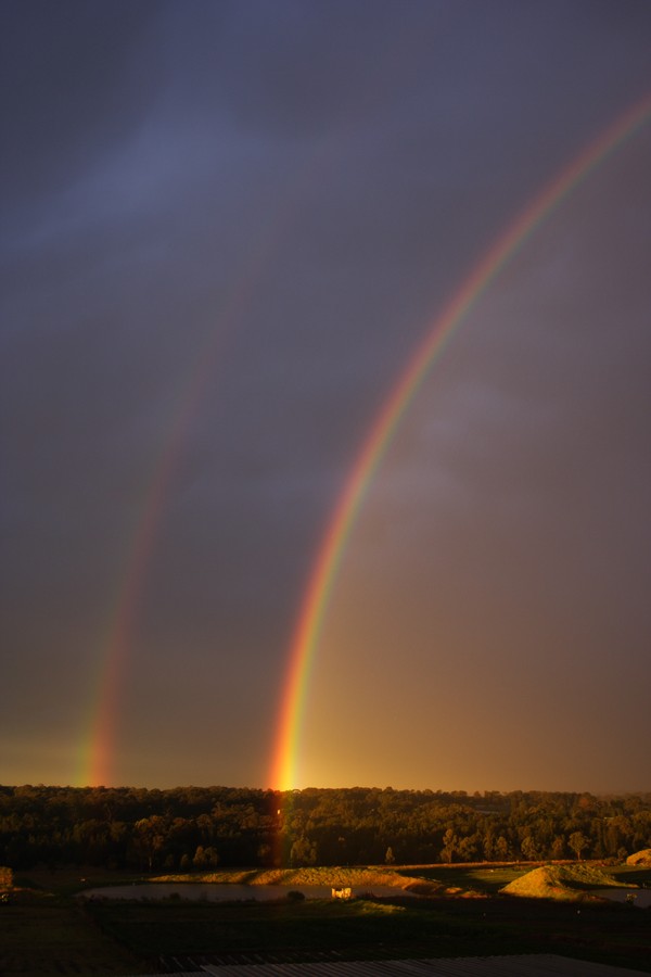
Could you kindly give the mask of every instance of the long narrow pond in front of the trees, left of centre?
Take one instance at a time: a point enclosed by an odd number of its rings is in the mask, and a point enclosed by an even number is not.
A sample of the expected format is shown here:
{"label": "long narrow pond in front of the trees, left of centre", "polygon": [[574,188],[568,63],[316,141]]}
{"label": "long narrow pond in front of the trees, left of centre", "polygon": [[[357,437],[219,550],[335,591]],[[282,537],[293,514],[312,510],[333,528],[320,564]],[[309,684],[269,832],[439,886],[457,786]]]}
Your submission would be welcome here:
{"label": "long narrow pond in front of the trees, left of centre", "polygon": [[[99,889],[85,889],[78,894],[84,899],[189,899],[193,902],[245,902],[286,899],[288,892],[302,892],[306,899],[330,899],[331,886],[239,886],[213,883],[144,883],[131,886],[103,886]],[[353,889],[354,896],[372,893],[373,896],[400,896],[403,890],[391,886],[359,886]]]}

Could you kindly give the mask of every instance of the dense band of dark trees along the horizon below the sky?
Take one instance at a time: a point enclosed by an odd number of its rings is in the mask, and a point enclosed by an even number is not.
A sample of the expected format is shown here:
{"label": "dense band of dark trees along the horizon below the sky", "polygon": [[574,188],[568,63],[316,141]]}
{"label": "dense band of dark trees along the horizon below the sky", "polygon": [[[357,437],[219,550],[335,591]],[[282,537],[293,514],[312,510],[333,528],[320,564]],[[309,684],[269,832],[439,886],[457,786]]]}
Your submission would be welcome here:
{"label": "dense band of dark trees along the horizon below the sky", "polygon": [[616,859],[651,848],[651,794],[0,786],[0,865],[217,866]]}

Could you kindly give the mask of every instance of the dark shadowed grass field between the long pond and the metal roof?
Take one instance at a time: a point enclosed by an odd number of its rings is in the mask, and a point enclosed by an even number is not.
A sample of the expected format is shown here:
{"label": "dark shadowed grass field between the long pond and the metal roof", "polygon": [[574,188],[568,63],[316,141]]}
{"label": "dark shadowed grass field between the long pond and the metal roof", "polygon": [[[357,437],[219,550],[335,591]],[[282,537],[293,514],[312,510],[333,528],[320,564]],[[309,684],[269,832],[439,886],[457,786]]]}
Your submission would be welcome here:
{"label": "dark shadowed grass field between the long pond and the metal roof", "polygon": [[[329,900],[304,903],[89,905],[103,931],[158,967],[187,969],[254,957],[284,960],[472,956],[552,952],[642,967],[649,918],[614,904],[582,908],[539,900]],[[155,959],[155,957],[158,959]],[[200,960],[197,961],[197,957]],[[161,960],[162,959],[162,960]],[[163,967],[161,967],[163,968]]]}

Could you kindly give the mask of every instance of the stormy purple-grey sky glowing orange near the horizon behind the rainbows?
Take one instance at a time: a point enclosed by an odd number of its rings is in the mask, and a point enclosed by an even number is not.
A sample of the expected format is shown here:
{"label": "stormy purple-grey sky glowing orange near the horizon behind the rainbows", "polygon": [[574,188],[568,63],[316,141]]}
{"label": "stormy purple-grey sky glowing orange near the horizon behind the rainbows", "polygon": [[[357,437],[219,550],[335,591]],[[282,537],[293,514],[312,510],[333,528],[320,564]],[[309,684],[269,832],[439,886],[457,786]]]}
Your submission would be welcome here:
{"label": "stormy purple-grey sky glowing orange near the horizon behind the rainbows", "polygon": [[[0,781],[84,778],[124,652],[112,783],[266,786],[357,452],[476,261],[651,91],[651,7],[0,12]],[[333,591],[299,786],[649,788],[650,174],[647,124],[433,367]]]}

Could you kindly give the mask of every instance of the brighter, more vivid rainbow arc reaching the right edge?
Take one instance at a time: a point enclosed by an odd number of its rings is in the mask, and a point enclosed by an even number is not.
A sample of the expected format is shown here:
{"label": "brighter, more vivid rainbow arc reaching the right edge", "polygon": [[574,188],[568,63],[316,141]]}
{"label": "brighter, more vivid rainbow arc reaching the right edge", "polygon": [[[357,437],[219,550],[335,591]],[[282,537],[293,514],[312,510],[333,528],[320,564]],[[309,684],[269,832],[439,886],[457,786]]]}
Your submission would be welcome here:
{"label": "brighter, more vivid rainbow arc reaching the right edge", "polygon": [[348,474],[311,568],[289,655],[270,781],[297,786],[298,741],[310,671],[346,544],[370,483],[405,414],[447,342],[532,234],[601,163],[651,118],[651,93],[620,116],[548,183],[494,241],[435,319],[375,417]]}

